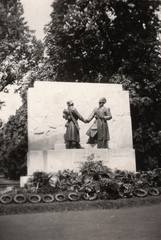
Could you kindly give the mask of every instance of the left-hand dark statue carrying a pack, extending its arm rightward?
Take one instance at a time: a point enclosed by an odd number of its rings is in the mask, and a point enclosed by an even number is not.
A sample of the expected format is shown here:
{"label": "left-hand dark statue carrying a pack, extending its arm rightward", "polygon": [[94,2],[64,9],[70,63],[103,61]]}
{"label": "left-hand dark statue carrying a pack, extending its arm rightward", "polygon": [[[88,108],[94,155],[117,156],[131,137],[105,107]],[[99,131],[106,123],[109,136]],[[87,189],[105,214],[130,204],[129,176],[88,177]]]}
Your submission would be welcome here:
{"label": "left-hand dark statue carrying a pack, extending its arm rightward", "polygon": [[65,140],[68,144],[67,148],[82,148],[80,145],[79,125],[78,119],[85,123],[84,118],[79,114],[77,109],[74,107],[72,100],[67,102],[68,109],[64,109],[63,118],[67,120]]}

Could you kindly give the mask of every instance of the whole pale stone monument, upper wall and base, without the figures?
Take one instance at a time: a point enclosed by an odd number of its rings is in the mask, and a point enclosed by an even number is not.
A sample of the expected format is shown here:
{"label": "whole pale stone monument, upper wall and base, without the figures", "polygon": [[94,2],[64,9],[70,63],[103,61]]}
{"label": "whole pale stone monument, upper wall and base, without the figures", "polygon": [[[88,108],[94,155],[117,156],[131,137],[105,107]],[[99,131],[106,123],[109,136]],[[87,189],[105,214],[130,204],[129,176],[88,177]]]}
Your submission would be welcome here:
{"label": "whole pale stone monument, upper wall and base, without the figures", "polygon": [[[82,149],[66,149],[63,110],[72,99],[84,119],[100,98],[105,97],[112,119],[108,121],[109,149],[87,144],[90,123],[79,121]],[[35,171],[55,173],[63,169],[78,170],[87,159],[101,160],[112,169],[136,171],[129,92],[121,84],[40,82],[28,90],[28,154],[27,174]],[[21,186],[24,183],[21,177]]]}

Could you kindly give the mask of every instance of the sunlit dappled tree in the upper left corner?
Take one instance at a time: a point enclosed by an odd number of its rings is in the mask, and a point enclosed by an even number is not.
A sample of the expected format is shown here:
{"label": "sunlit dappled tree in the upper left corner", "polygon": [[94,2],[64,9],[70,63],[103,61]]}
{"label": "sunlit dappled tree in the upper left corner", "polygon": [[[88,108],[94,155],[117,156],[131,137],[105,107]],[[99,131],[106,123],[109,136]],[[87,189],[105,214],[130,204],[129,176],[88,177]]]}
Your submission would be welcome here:
{"label": "sunlit dappled tree in the upper left corner", "polygon": [[44,46],[24,22],[20,0],[0,0],[0,91],[19,84],[42,60]]}

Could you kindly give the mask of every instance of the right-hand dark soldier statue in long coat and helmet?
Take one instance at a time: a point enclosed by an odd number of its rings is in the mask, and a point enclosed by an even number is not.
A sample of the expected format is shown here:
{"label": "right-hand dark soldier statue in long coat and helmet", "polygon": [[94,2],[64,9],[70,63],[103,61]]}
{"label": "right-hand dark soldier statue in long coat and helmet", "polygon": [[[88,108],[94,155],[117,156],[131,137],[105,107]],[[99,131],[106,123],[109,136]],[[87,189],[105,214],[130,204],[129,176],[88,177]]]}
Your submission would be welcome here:
{"label": "right-hand dark soldier statue in long coat and helmet", "polygon": [[95,108],[86,120],[86,123],[88,123],[95,118],[93,125],[86,134],[89,136],[88,143],[94,143],[96,140],[98,148],[108,148],[108,141],[110,140],[107,120],[110,120],[112,115],[110,109],[104,106],[105,103],[106,98],[101,98],[99,107]]}

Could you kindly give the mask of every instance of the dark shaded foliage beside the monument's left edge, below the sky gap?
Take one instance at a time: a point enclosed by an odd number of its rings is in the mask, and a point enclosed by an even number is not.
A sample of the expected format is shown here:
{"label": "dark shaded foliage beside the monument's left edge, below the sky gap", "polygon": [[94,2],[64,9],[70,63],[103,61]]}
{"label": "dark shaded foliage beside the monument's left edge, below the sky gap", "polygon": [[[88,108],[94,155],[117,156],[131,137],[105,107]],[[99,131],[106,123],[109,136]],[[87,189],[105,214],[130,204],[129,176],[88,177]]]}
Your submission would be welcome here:
{"label": "dark shaded foliage beside the monument's left edge, below the sky gap", "polygon": [[15,116],[10,116],[0,132],[1,149],[0,165],[11,178],[24,174],[23,164],[27,160],[27,106],[17,110]]}

